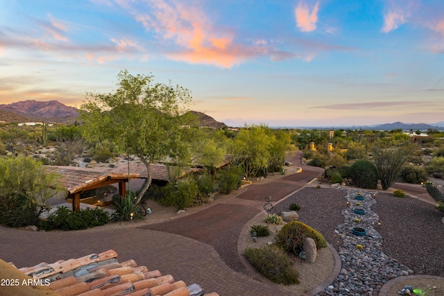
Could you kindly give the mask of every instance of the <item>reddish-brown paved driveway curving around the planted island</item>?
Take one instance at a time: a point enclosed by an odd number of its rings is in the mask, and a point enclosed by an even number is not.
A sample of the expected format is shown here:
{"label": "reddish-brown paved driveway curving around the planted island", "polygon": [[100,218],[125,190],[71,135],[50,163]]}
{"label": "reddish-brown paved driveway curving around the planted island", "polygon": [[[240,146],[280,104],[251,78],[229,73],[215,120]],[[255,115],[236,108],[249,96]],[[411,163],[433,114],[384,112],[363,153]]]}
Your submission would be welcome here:
{"label": "reddish-brown paved driveway curving around the planted island", "polygon": [[[300,164],[300,153],[289,161]],[[135,259],[138,265],[171,274],[187,284],[200,284],[207,292],[221,296],[290,295],[276,285],[250,277],[239,259],[237,241],[248,220],[263,211],[267,195],[275,203],[322,173],[322,168],[302,165],[302,173],[289,172],[278,180],[250,185],[235,198],[143,229],[25,232],[0,227],[1,259],[24,267],[113,249],[121,261]],[[418,191],[418,195],[427,199],[424,192]]]}

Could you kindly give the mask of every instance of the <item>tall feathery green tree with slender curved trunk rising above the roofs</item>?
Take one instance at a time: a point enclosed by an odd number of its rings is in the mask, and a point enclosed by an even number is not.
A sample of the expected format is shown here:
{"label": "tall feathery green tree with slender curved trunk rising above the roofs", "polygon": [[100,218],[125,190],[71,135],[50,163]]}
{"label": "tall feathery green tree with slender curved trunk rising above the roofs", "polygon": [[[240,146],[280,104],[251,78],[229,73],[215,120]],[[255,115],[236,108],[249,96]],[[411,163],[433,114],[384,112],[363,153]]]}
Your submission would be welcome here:
{"label": "tall feathery green tree with slender curved trunk rising above the roofs", "polygon": [[187,141],[191,121],[187,106],[188,89],[154,82],[153,76],[131,75],[123,70],[117,76],[117,90],[108,94],[87,93],[81,108],[85,137],[107,139],[129,155],[137,155],[147,170],[146,182],[137,196],[139,202],[151,184],[151,164],[169,159],[189,159]]}

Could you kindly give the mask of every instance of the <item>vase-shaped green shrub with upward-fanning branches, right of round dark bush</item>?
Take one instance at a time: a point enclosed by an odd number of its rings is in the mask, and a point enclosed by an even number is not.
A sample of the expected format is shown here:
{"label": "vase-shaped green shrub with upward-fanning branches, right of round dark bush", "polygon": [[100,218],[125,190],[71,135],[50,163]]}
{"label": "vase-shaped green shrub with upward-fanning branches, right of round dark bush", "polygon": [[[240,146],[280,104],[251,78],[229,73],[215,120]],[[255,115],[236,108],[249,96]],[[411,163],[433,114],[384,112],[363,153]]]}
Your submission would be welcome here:
{"label": "vase-shaped green shrub with upward-fanning branches, right of round dark bush", "polygon": [[372,148],[373,160],[379,173],[379,180],[383,190],[387,190],[398,180],[404,164],[406,164],[415,146],[407,141],[400,141],[398,145],[379,141]]}

